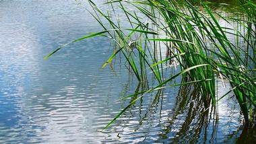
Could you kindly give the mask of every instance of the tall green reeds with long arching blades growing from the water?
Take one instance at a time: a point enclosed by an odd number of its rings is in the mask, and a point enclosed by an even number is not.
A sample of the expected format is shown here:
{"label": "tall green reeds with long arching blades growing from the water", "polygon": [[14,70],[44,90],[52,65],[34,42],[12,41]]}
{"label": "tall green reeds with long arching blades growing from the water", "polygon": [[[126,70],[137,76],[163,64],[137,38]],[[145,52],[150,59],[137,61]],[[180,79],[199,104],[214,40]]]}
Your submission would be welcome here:
{"label": "tall green reeds with long arching blades growing from the water", "polygon": [[[193,85],[197,89],[197,96],[203,101],[204,112],[210,112],[210,107],[218,108],[219,100],[229,94],[234,95],[244,117],[244,127],[254,127],[255,1],[236,1],[238,5],[230,8],[230,15],[222,15],[220,11],[212,10],[211,5],[217,5],[216,3],[196,0],[106,1],[104,4],[112,12],[102,11],[91,0],[88,3],[93,8],[89,12],[102,26],[103,31],[68,44],[95,36],[108,37],[113,41],[113,55],[102,68],[111,65],[115,57],[121,55],[139,83],[148,83],[148,73],[152,73],[157,81],[156,85],[149,85],[148,89],[122,98],[131,99],[131,102],[104,129],[145,94],[183,85]],[[133,10],[126,5],[133,7]],[[123,28],[115,11],[122,11],[129,25]],[[228,25],[222,26],[220,21]],[[44,59],[68,44],[57,48]],[[172,66],[172,69],[179,67],[179,71],[166,74],[166,66]],[[181,83],[170,84],[170,81],[180,76],[183,77]],[[219,96],[216,90],[217,81],[221,81],[223,85],[228,83],[230,90]]]}

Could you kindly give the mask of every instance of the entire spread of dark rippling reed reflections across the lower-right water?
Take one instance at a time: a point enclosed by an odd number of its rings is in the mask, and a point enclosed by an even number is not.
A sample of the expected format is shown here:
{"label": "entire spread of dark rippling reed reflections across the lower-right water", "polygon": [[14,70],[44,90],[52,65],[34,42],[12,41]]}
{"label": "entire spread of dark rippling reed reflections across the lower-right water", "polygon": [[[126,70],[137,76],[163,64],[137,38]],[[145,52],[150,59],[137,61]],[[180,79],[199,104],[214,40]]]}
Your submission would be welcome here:
{"label": "entire spread of dark rippling reed reflections across the lower-right water", "polygon": [[[181,81],[185,83],[189,79],[182,77]],[[145,87],[139,83],[134,93],[141,92],[144,89]],[[236,143],[252,143],[255,140],[256,127],[252,129],[244,128],[242,130],[240,127],[243,127],[243,125],[237,127],[237,129],[225,137],[221,136],[221,131],[228,130],[228,128],[223,127],[223,124],[219,123],[219,120],[222,120],[219,119],[219,115],[222,116],[222,114],[219,114],[218,108],[214,106],[205,108],[203,98],[199,95],[199,90],[193,84],[179,87],[179,92],[174,98],[174,104],[168,111],[168,116],[163,120],[162,118],[165,116],[162,116],[162,111],[166,104],[164,102],[164,99],[166,99],[164,98],[165,91],[166,89],[158,89],[157,92],[150,94],[152,100],[146,106],[146,110],[145,104],[143,105],[143,99],[145,98],[142,97],[139,100],[139,106],[134,104],[131,110],[128,111],[131,116],[137,116],[136,113],[133,113],[136,108],[139,111],[138,124],[134,131],[139,132],[139,129],[147,124],[149,120],[156,122],[153,125],[158,125],[161,133],[154,136],[158,137],[154,143],[183,143],[185,141],[189,143],[219,143],[220,141],[234,143],[236,140]],[[132,98],[130,102],[138,98],[138,96]],[[228,105],[233,104],[232,98],[225,101],[230,101],[231,104]],[[154,131],[154,127],[152,129]],[[143,135],[141,137],[144,137],[141,142],[152,142],[149,141],[149,137]]]}

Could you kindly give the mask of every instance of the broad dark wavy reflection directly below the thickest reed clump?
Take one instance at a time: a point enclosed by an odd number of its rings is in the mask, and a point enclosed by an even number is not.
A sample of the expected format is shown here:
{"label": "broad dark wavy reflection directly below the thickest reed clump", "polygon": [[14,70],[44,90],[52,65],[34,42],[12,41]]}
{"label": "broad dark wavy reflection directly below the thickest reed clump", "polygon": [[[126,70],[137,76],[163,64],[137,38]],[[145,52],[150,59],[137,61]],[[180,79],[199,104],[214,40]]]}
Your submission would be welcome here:
{"label": "broad dark wavy reflection directly below the thickest reed clump", "polygon": [[[187,79],[183,77],[183,82]],[[199,96],[199,91],[193,85],[183,85],[179,89],[174,108],[171,110],[166,127],[157,142],[164,142],[166,139],[172,143],[181,143],[189,141],[190,143],[202,143],[213,141],[216,137],[218,120],[215,120],[215,111],[205,110],[203,98]],[[214,108],[210,108],[214,110]],[[183,117],[182,120],[181,117]],[[213,117],[212,117],[213,116]],[[212,133],[208,131],[209,119],[214,119],[214,129]],[[178,129],[178,130],[177,130]],[[168,134],[175,132],[174,137],[168,138]],[[211,133],[210,139],[207,137]]]}

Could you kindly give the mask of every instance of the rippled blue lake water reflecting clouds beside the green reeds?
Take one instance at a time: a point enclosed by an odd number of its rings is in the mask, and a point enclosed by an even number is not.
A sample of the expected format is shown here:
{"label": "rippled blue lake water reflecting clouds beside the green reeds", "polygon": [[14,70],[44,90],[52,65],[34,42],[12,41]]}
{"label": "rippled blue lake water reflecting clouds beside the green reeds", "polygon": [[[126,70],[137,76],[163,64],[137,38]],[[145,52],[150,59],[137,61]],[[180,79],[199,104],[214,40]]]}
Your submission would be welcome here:
{"label": "rippled blue lake water reflecting clouds beside the green reeds", "polygon": [[243,116],[234,98],[218,104],[218,116],[200,114],[193,87],[148,94],[100,131],[129,104],[119,98],[143,87],[122,62],[100,69],[113,53],[109,40],[83,40],[43,60],[57,46],[102,30],[86,9],[92,10],[86,1],[0,1],[0,143],[230,143],[240,137]]}

